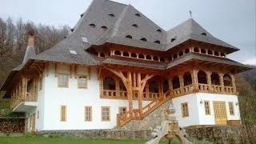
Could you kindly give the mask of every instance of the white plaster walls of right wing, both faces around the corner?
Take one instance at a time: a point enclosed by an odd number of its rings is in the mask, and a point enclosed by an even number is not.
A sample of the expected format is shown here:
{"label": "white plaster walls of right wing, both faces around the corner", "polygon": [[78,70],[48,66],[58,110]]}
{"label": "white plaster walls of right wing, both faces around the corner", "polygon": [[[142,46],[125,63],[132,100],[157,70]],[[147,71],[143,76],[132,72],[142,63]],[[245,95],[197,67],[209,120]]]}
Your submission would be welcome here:
{"label": "white plaster walls of right wing, both faces around the corner", "polygon": [[[200,103],[201,100],[202,104]],[[205,114],[204,101],[210,102],[210,115]],[[173,103],[176,108],[175,115],[178,119],[179,125],[215,125],[214,101],[226,102],[227,120],[240,120],[239,106],[236,106],[238,96],[227,94],[194,93],[173,98]],[[188,102],[189,117],[182,118],[181,103],[183,102]],[[228,102],[234,103],[234,115],[230,115]]]}

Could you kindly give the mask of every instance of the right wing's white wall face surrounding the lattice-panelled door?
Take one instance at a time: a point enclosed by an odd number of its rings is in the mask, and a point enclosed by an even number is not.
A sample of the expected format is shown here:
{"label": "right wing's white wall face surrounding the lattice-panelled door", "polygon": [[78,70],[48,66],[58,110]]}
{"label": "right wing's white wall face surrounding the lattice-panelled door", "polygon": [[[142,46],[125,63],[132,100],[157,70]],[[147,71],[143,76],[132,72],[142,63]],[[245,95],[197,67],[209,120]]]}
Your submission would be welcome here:
{"label": "right wing's white wall face surrounding the lattice-panelled door", "polygon": [[[198,93],[198,110],[199,110],[199,121],[201,125],[214,125],[214,101],[226,102],[226,116],[227,120],[240,120],[240,111],[239,106],[236,106],[238,102],[238,96],[228,95],[228,94],[205,94]],[[199,104],[202,100],[202,104]],[[210,102],[210,115],[205,114],[204,101]],[[234,104],[234,115],[230,115],[229,103],[233,102]]]}

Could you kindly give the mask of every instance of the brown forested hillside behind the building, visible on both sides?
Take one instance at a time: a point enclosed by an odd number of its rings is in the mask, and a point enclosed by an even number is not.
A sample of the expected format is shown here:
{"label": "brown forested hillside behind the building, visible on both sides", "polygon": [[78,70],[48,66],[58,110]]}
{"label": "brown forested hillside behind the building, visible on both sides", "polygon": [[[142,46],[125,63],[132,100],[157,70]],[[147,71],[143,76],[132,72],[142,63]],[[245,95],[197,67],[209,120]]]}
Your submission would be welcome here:
{"label": "brown forested hillside behind the building, visible on both sides", "polygon": [[[35,31],[35,48],[37,53],[56,45],[69,33],[69,26],[54,27],[35,25],[33,22],[14,22],[11,18],[6,21],[0,18],[0,86],[7,74],[22,62],[27,46],[27,32]],[[256,66],[255,66],[256,67]],[[239,106],[242,122],[256,124],[256,69],[236,75],[239,92]],[[0,110],[9,106],[8,100],[0,94]]]}

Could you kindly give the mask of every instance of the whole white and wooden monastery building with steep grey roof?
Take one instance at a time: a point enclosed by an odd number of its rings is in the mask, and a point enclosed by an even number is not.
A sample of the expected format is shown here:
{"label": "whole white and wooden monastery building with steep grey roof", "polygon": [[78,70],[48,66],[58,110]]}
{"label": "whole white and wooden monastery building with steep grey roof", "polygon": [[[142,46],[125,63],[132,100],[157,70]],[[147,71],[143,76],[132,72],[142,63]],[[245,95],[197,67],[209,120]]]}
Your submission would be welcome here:
{"label": "whole white and wooden monastery building with steep grey roof", "polygon": [[194,19],[166,31],[133,6],[94,0],[71,31],[36,55],[30,30],[1,87],[27,131],[122,127],[170,99],[180,126],[240,123],[234,74],[250,68]]}

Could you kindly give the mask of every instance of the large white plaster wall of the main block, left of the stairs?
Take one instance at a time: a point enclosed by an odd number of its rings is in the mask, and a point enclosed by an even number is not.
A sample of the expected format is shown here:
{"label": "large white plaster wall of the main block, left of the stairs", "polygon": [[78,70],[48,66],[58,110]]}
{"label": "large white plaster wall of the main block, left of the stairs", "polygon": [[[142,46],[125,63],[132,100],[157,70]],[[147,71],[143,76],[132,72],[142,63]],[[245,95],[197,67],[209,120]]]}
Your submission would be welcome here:
{"label": "large white plaster wall of the main block, left of the stairs", "polygon": [[[58,72],[69,74],[68,66],[58,65]],[[83,74],[88,74],[84,70]],[[127,106],[127,100],[102,99],[99,96],[97,69],[91,68],[87,89],[78,89],[78,79],[69,79],[68,88],[58,88],[58,78],[54,76],[54,65],[50,65],[49,75],[45,77],[43,124],[40,130],[92,130],[110,129],[116,126],[118,106]],[[146,106],[149,101],[142,102]],[[60,106],[66,106],[66,122],[60,122]],[[84,122],[84,106],[92,106],[92,122]],[[110,122],[101,121],[101,106],[110,106]],[[134,101],[134,108],[138,102]]]}

